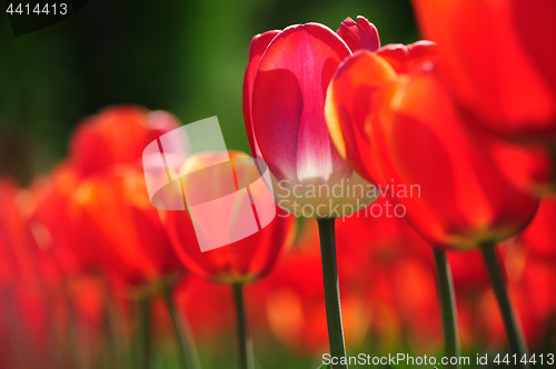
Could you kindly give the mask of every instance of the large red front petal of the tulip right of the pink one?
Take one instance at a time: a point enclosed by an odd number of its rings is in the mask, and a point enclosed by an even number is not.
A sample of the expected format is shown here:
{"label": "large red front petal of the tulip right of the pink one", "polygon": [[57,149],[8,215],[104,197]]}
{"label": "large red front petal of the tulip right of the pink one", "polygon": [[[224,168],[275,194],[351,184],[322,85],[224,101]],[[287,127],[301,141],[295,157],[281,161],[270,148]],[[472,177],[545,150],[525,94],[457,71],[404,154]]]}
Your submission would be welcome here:
{"label": "large red front petal of the tulip right of the pink one", "polygon": [[528,223],[538,202],[486,154],[436,73],[406,77],[385,99],[389,112],[373,120],[374,142],[394,182],[419,186],[418,196],[400,199],[417,229],[436,245],[469,248]]}

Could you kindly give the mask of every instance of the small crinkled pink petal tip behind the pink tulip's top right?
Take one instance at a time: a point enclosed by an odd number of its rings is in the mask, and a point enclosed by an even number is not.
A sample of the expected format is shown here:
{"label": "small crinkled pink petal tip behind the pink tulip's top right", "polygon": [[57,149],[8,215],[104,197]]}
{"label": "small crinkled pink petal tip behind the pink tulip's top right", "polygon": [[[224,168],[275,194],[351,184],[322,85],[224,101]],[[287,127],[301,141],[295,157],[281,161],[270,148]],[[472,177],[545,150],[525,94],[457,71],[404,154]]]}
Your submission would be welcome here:
{"label": "small crinkled pink petal tip behind the pink tulip's top right", "polygon": [[365,17],[357,17],[357,22],[351,18],[346,18],[341,22],[340,28],[336,31],[344,41],[346,41],[351,52],[357,50],[375,51],[380,48],[380,38],[378,30]]}

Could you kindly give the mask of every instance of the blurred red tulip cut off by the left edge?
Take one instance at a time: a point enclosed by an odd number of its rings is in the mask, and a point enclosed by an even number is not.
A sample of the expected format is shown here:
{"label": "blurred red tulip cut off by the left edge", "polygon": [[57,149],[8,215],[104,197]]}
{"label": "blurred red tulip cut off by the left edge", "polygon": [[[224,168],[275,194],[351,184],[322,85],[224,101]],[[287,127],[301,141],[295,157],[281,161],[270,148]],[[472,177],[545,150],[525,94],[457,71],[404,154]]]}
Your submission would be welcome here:
{"label": "blurred red tulip cut off by the left edge", "polygon": [[[2,267],[8,267],[0,303],[10,325],[12,359],[23,368],[39,365],[34,359],[51,360],[68,322],[62,273],[46,242],[48,233],[31,219],[34,206],[30,191],[0,181],[0,252]],[[18,358],[24,350],[37,356]]]}

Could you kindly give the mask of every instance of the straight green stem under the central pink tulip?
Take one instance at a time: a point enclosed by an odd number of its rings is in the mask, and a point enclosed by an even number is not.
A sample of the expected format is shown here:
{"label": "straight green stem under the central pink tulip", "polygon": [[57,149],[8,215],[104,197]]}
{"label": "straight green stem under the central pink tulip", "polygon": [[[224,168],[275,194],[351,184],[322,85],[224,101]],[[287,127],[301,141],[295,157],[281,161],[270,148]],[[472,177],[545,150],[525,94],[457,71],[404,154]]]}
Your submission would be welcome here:
{"label": "straight green stem under the central pink tulip", "polygon": [[336,261],[335,219],[318,219],[320,238],[320,255],[322,259],[322,281],[325,286],[326,320],[328,325],[328,342],[334,369],[347,369],[346,345],[344,342],[344,327],[341,325],[340,287],[338,266]]}

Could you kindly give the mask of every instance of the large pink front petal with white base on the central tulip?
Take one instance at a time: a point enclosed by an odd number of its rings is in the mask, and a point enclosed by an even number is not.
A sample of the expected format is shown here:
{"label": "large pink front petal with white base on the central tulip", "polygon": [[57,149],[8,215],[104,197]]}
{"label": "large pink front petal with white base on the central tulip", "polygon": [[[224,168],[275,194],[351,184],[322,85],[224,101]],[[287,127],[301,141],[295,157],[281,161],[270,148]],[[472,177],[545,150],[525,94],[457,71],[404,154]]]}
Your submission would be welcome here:
{"label": "large pink front petal with white base on the central tulip", "polygon": [[252,124],[262,157],[278,179],[328,181],[350,168],[330,140],[325,97],[350,54],[329,28],[291,26],[267,48],[254,83]]}

